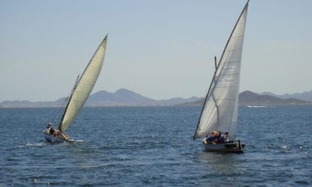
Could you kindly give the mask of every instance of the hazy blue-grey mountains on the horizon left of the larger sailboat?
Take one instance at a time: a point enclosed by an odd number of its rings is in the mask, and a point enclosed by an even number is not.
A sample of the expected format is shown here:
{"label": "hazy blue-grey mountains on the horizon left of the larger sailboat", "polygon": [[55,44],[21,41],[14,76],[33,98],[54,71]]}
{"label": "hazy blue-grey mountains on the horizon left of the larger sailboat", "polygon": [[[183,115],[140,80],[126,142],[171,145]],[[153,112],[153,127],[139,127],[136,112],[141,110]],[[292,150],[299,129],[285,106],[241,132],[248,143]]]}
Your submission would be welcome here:
{"label": "hazy blue-grey mountains on the horizon left of the larger sailboat", "polygon": [[[0,108],[60,107],[65,103],[65,99],[60,98],[57,101],[48,102],[4,101],[0,103]],[[199,100],[198,97],[155,100],[141,96],[128,89],[119,89],[115,93],[98,91],[91,94],[85,106],[173,106],[179,103],[194,102],[197,100]]]}

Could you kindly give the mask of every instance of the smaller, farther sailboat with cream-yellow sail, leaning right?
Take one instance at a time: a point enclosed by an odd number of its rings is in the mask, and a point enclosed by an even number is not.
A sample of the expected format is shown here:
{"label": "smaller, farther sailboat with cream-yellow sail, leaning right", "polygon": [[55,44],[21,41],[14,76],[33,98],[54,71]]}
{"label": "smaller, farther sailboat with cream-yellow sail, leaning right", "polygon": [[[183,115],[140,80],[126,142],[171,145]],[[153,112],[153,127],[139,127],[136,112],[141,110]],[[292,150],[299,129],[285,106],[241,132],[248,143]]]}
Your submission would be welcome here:
{"label": "smaller, farther sailboat with cream-yellow sail, leaning right", "polygon": [[96,79],[99,77],[104,62],[106,42],[107,35],[104,40],[102,40],[93,57],[91,57],[82,76],[77,78],[57,130],[54,130],[50,123],[46,130],[44,130],[44,137],[48,142],[64,142],[69,140],[69,135],[67,135],[65,130],[69,128],[69,125],[72,124],[79,111],[84,106],[84,103],[87,101],[96,83]]}

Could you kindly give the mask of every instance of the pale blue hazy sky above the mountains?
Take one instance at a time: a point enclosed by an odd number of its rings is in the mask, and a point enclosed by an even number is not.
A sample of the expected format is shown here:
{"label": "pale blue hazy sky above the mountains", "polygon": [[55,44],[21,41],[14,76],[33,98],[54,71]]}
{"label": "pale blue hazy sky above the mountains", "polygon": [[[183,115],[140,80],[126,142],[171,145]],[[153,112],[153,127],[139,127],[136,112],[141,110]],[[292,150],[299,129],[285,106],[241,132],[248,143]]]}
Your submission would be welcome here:
{"label": "pale blue hazy sky above the mountains", "polygon": [[[68,96],[108,33],[96,91],[203,97],[244,0],[0,0],[0,102]],[[250,1],[240,91],[312,90],[312,1]]]}

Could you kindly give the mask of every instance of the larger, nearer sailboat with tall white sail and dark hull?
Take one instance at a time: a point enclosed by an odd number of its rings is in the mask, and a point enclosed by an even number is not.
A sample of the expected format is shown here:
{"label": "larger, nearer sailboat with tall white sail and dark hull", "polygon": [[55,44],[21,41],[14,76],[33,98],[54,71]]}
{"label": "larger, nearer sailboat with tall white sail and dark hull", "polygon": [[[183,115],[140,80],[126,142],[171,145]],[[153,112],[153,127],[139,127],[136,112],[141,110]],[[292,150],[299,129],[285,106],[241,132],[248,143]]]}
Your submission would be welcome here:
{"label": "larger, nearer sailboat with tall white sail and dark hull", "polygon": [[215,57],[216,71],[201,109],[194,140],[212,131],[218,132],[219,137],[222,133],[225,136],[218,142],[211,142],[205,137],[202,142],[206,151],[243,152],[245,147],[240,140],[235,140],[235,137],[238,127],[240,64],[247,8],[248,1],[240,13],[218,63]]}

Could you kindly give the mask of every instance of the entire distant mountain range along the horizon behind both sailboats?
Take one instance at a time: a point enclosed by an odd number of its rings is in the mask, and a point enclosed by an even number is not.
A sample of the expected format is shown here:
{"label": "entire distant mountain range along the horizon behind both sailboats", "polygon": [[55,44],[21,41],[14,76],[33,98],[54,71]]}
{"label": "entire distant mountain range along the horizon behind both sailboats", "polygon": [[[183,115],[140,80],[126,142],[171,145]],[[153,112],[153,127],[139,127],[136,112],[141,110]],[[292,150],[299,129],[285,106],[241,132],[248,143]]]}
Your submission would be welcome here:
{"label": "entire distant mountain range along the horizon behind both sailboats", "polygon": [[[298,99],[298,98],[301,99]],[[311,100],[310,100],[311,99]],[[0,108],[40,108],[60,107],[65,103],[66,98],[48,102],[30,101],[4,101]],[[119,89],[115,93],[98,91],[89,96],[85,106],[202,106],[204,98],[170,98],[167,100],[155,100],[141,96],[128,89]],[[272,93],[256,94],[252,91],[243,91],[239,95],[239,103],[242,105],[268,105],[268,104],[308,104],[312,103],[312,91],[302,94],[285,94],[278,96]]]}

